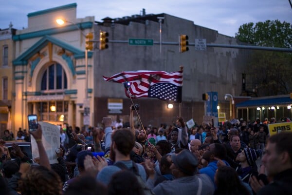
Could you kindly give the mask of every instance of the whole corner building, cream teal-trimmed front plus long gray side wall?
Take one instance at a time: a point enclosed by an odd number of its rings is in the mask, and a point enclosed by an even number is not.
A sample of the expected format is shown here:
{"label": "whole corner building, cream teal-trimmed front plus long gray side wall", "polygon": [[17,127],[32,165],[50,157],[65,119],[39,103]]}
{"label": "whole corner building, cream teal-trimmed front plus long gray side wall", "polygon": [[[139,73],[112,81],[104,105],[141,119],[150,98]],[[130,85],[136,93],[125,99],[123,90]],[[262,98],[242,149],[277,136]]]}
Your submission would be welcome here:
{"label": "whole corner building, cream teal-trimmed front plus long gray side wall", "polygon": [[[105,116],[127,122],[132,103],[140,104],[138,113],[144,126],[172,124],[180,107],[185,120],[193,118],[200,124],[205,115],[203,93],[218,92],[222,113],[229,113],[229,101],[224,95],[241,93],[249,50],[220,47],[195,50],[196,39],[230,45],[240,44],[237,39],[164,13],[144,12],[97,22],[94,17],[77,19],[76,8],[73,3],[30,13],[28,28],[18,30],[13,36],[16,50],[12,130],[27,128],[28,114],[37,114],[42,121],[79,127],[97,126]],[[55,22],[58,18],[66,20],[65,24],[59,26]],[[100,30],[109,33],[108,49],[98,49]],[[95,43],[86,58],[85,35],[89,32],[93,32]],[[179,52],[180,34],[189,37],[189,51],[184,53]],[[154,44],[130,45],[128,39],[153,39]],[[174,104],[173,109],[155,98],[132,102],[122,84],[102,78],[122,71],[174,72],[180,66],[183,66],[183,102],[181,106]],[[115,109],[113,104],[117,105]],[[89,108],[86,111],[89,115],[84,112],[85,107]]]}

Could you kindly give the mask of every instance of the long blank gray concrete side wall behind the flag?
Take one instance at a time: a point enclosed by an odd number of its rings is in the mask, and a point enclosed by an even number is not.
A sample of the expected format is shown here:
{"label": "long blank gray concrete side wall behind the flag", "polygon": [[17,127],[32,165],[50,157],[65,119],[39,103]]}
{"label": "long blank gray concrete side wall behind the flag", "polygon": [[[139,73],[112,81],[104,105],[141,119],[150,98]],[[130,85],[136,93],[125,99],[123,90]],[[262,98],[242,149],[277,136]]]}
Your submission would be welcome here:
{"label": "long blank gray concrete side wall behind the flag", "polygon": [[[195,39],[206,39],[207,43],[218,44],[238,44],[237,39],[220,35],[217,31],[194,25],[193,21],[184,20],[164,14],[162,24],[162,41],[178,42],[179,34],[186,34],[189,42],[194,43]],[[110,40],[128,40],[129,38],[153,39],[159,41],[159,22],[146,21],[144,23],[130,22],[129,25],[111,24],[110,26],[95,25],[95,37],[98,37],[99,30],[109,32]],[[226,93],[239,95],[241,93],[241,74],[244,73],[249,51],[232,48],[207,47],[206,51],[196,51],[194,46],[189,46],[189,51],[179,53],[178,45],[162,45],[160,54],[159,45],[134,46],[128,43],[109,43],[106,50],[95,50],[95,77],[94,96],[95,106],[106,103],[105,98],[125,98],[124,102],[130,102],[126,98],[124,87],[119,83],[105,82],[102,76],[110,77],[122,71],[136,70],[163,70],[167,72],[178,71],[183,66],[183,109],[186,119],[194,118],[201,123],[204,115],[204,102],[201,95],[209,91],[217,91],[219,103],[226,116],[229,116],[229,102],[224,100]],[[103,99],[103,100],[102,100]],[[128,100],[127,100],[128,99]],[[103,103],[102,103],[103,102]],[[135,102],[144,104],[142,108],[147,111],[164,108],[167,102],[153,99],[140,98]],[[151,103],[149,103],[151,102]],[[152,106],[158,104],[160,106]],[[127,103],[124,103],[127,105]],[[129,103],[130,105],[131,103]],[[150,106],[150,107],[149,107]],[[188,111],[190,109],[190,111]],[[164,118],[165,112],[153,111],[144,115],[147,122],[153,121],[153,116],[160,117],[155,122]],[[174,108],[176,110],[176,107]],[[177,109],[178,111],[178,109]],[[140,111],[143,113],[143,111]],[[221,112],[221,111],[220,111]],[[99,121],[102,115],[107,115],[99,109],[100,114],[96,114],[95,120]],[[128,106],[124,106],[123,114],[128,113]],[[155,113],[155,114],[154,114]],[[178,112],[173,113],[178,116]],[[151,118],[152,117],[152,118]],[[146,123],[147,123],[146,122]]]}

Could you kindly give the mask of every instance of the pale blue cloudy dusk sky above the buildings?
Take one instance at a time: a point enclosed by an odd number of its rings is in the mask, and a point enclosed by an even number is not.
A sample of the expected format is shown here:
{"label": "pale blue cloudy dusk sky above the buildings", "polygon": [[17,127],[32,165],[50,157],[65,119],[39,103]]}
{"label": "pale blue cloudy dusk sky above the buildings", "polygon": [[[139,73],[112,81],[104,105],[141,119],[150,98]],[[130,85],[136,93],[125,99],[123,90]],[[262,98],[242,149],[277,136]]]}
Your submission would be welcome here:
{"label": "pale blue cloudy dusk sky above the buildings", "polygon": [[77,3],[77,18],[122,18],[141,14],[169,14],[235,37],[240,25],[266,20],[292,23],[289,0],[0,0],[0,28],[27,28],[27,14]]}

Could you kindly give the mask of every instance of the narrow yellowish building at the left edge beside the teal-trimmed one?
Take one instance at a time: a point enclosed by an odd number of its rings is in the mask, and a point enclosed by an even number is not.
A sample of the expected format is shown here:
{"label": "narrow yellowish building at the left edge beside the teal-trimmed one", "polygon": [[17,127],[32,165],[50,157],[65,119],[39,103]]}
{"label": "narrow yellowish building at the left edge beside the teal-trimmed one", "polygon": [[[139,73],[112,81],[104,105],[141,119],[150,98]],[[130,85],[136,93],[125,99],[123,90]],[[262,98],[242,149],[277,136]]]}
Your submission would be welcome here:
{"label": "narrow yellowish building at the left edge beside the teal-trimmed one", "polygon": [[9,28],[0,30],[0,135],[6,129],[14,130],[11,121],[11,106],[13,99],[13,66],[14,42],[12,36],[15,29],[10,23]]}

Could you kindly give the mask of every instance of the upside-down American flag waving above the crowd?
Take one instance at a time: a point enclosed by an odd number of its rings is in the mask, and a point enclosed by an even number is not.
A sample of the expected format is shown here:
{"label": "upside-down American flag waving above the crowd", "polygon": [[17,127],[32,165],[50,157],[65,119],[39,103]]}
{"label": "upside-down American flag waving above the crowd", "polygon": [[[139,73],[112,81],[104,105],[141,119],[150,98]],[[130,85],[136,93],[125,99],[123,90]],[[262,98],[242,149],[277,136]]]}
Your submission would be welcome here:
{"label": "upside-down American flag waving above the crowd", "polygon": [[164,71],[130,71],[121,72],[111,77],[104,77],[106,81],[124,83],[129,82],[127,97],[158,98],[169,102],[182,102],[183,71],[167,73]]}

